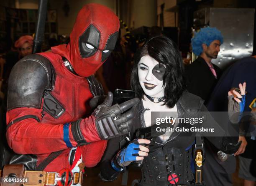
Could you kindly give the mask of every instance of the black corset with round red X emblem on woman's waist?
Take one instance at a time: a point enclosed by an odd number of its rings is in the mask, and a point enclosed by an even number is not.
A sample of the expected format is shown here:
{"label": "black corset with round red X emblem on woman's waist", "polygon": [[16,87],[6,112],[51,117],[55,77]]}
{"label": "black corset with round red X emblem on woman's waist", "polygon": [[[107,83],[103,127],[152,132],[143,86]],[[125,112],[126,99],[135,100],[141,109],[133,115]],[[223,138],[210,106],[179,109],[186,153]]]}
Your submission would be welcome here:
{"label": "black corset with round red X emblem on woman's waist", "polygon": [[164,146],[144,157],[139,185],[169,186],[172,185],[168,181],[169,175],[174,182],[178,177],[177,185],[190,185],[194,182],[191,162],[194,163],[191,149],[184,151]]}

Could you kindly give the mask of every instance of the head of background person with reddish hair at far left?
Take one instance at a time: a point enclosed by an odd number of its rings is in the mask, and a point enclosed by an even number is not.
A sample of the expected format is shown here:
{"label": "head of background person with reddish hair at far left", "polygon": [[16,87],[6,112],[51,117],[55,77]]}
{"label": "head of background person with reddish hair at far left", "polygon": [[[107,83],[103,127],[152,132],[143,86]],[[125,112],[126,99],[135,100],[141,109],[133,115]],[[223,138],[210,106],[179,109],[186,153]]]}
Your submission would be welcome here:
{"label": "head of background person with reddish hair at far left", "polygon": [[15,41],[14,46],[19,49],[19,58],[32,54],[33,40],[31,35],[23,35]]}

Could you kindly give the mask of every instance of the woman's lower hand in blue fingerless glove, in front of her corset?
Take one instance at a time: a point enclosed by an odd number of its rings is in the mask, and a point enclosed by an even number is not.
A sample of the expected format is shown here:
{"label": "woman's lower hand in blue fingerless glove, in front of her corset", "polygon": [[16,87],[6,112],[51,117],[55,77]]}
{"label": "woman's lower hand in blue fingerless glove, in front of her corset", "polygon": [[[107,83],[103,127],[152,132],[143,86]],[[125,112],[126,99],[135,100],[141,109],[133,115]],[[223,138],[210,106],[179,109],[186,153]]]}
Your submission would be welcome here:
{"label": "woman's lower hand in blue fingerless glove, in front of her corset", "polygon": [[136,139],[131,141],[125,148],[118,152],[113,161],[115,161],[118,166],[124,167],[131,164],[132,161],[143,160],[144,156],[148,156],[149,149],[140,144],[150,144],[150,140]]}

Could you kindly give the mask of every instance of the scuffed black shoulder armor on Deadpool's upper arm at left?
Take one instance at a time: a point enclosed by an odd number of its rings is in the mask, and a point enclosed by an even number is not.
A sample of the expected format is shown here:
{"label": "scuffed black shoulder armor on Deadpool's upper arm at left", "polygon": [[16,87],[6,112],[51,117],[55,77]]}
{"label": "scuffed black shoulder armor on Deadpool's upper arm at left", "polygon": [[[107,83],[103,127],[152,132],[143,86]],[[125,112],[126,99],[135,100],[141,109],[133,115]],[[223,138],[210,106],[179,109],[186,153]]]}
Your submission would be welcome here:
{"label": "scuffed black shoulder armor on Deadpool's upper arm at left", "polygon": [[7,110],[40,108],[44,93],[53,90],[55,78],[54,67],[46,57],[32,54],[22,58],[10,73]]}

